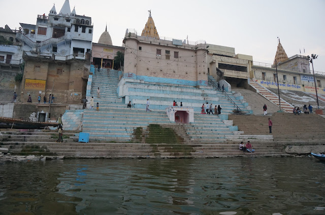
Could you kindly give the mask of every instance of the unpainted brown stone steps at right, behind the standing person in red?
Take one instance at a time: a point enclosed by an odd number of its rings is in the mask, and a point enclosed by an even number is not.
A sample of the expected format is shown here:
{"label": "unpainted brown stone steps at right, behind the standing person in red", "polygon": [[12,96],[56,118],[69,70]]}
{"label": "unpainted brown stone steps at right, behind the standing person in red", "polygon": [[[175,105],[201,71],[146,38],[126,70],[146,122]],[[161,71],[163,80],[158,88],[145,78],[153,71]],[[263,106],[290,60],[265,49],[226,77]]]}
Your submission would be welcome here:
{"label": "unpainted brown stone steps at right, behind the standing person in red", "polygon": [[245,134],[269,134],[271,118],[273,144],[287,145],[322,145],[325,143],[325,119],[317,114],[294,115],[275,113],[272,116],[236,116],[230,115],[238,130]]}

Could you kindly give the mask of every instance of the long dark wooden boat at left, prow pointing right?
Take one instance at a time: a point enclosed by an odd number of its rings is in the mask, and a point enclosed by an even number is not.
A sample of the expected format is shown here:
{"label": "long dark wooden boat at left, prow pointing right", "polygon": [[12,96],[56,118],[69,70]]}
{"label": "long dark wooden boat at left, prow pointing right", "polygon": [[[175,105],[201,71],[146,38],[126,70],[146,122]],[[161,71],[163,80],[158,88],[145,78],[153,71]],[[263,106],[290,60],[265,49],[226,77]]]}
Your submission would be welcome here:
{"label": "long dark wooden boat at left, prow pointing right", "polygon": [[46,126],[58,126],[56,122],[32,122],[15,118],[0,117],[0,128],[40,129]]}

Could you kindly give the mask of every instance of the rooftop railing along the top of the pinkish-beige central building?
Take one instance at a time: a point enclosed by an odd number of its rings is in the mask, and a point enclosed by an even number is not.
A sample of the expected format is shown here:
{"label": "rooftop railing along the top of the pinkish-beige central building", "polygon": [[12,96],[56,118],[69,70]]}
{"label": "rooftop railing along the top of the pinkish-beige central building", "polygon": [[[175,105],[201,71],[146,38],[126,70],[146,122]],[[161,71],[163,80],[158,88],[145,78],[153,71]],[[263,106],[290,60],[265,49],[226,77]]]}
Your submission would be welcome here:
{"label": "rooftop railing along the top of the pinkish-beige central building", "polygon": [[[140,40],[160,42],[162,44],[171,44],[172,45],[173,39],[175,39],[175,38],[166,37],[166,36],[159,36],[159,39],[156,39],[155,37],[141,36],[141,34],[137,32],[137,30],[130,29],[130,28],[126,29],[125,37],[128,37],[129,33],[135,34],[137,36],[137,38],[139,38]],[[182,40],[182,39],[177,39],[177,40]],[[205,40],[198,40],[198,41],[188,41],[188,40],[184,41],[184,40],[182,40],[182,41],[183,41],[182,42],[183,46],[186,46],[186,45],[197,46],[199,44],[204,44],[204,45],[207,44],[207,42]]]}

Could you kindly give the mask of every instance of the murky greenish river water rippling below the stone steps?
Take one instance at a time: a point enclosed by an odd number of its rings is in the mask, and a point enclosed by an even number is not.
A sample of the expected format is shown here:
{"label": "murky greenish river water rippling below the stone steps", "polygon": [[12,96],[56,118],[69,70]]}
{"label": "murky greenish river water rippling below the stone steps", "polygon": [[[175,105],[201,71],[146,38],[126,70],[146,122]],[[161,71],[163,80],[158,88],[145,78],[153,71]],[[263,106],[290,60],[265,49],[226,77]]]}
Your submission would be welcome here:
{"label": "murky greenish river water rippling below the stone steps", "polygon": [[325,214],[315,158],[0,164],[0,214]]}

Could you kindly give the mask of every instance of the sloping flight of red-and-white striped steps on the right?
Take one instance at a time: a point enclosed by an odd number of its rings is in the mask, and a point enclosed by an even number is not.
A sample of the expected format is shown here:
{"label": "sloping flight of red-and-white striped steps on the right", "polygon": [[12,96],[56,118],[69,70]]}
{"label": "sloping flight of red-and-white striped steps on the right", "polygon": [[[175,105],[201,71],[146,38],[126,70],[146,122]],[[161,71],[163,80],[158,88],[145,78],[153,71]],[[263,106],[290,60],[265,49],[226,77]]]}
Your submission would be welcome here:
{"label": "sloping flight of red-and-white striped steps on the right", "polygon": [[[261,84],[257,83],[254,80],[250,80],[249,85],[251,85],[251,87],[253,87],[256,90],[257,93],[261,94],[263,97],[268,99],[273,104],[275,104],[277,106],[280,105],[279,97],[275,93],[271,92],[270,90],[263,87]],[[280,98],[280,101],[281,101],[281,109],[283,109],[287,113],[292,113],[293,112],[294,106],[292,106],[291,104],[289,104],[288,102],[286,102],[282,98]]]}

